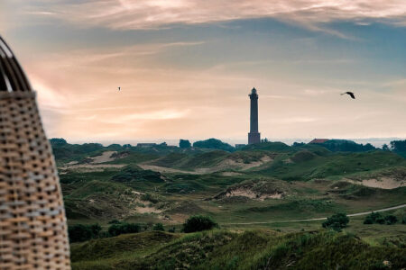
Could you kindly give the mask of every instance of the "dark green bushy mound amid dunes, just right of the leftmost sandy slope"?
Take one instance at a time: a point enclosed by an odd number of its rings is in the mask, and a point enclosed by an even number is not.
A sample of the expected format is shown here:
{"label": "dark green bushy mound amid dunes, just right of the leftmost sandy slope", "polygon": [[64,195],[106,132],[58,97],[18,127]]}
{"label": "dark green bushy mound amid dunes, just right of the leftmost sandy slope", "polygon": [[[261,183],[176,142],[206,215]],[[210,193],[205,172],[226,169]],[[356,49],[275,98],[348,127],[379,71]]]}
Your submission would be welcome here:
{"label": "dark green bushy mound amid dunes, just right of the leftmost sandy slope", "polygon": [[143,170],[139,166],[125,166],[119,173],[113,175],[111,180],[115,182],[128,183],[133,181],[147,181],[161,183],[161,174],[152,170]]}

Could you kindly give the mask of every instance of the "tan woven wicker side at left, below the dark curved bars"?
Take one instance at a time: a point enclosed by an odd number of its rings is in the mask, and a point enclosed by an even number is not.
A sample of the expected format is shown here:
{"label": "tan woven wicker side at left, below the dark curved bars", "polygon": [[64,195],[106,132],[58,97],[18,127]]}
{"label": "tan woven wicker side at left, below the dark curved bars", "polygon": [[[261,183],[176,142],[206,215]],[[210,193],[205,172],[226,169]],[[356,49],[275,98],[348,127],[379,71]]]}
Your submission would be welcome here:
{"label": "tan woven wicker side at left, below the dark curved bars", "polygon": [[0,92],[0,269],[70,269],[59,178],[32,92]]}

